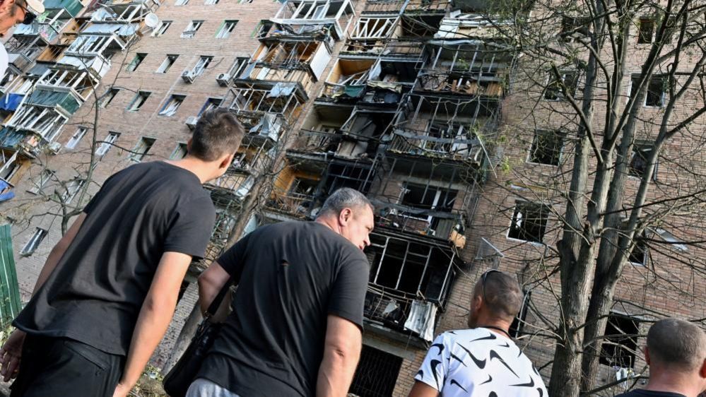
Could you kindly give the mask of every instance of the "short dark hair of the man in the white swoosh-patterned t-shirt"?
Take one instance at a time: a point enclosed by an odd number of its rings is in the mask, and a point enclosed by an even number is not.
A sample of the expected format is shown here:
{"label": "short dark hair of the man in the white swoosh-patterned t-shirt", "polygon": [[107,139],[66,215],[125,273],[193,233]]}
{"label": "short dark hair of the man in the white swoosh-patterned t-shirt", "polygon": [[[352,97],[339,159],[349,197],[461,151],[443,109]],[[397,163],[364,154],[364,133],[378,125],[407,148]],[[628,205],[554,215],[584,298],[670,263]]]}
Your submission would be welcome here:
{"label": "short dark hair of the man in the white swoosh-patterned t-shirt", "polygon": [[[473,296],[483,295],[482,280],[478,280]],[[486,277],[486,296],[483,304],[488,310],[502,319],[512,321],[522,309],[522,288],[517,283],[517,277],[504,271],[493,271]]]}

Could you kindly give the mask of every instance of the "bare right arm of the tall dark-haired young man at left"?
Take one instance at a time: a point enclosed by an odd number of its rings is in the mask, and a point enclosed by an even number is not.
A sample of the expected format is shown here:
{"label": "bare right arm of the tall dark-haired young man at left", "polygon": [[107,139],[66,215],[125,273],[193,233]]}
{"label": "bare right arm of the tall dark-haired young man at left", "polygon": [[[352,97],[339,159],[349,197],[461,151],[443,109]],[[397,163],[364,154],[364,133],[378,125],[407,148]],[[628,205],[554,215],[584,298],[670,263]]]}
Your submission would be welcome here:
{"label": "bare right arm of the tall dark-haired young man at left", "polygon": [[190,255],[179,252],[165,252],[162,255],[150,290],[140,309],[118,387],[130,389],[136,384],[162,340],[174,315],[179,288],[191,261]]}

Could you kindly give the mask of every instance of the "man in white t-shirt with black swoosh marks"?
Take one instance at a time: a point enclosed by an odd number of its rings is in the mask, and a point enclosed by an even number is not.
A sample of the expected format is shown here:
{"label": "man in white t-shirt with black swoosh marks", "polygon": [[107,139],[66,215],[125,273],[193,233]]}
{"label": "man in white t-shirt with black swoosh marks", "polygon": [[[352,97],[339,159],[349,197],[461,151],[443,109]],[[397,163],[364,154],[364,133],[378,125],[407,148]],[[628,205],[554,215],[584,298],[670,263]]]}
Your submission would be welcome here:
{"label": "man in white t-shirt with black swoosh marks", "polygon": [[545,397],[539,372],[510,338],[522,306],[512,275],[491,269],[473,289],[469,328],[442,333],[417,372],[409,397]]}

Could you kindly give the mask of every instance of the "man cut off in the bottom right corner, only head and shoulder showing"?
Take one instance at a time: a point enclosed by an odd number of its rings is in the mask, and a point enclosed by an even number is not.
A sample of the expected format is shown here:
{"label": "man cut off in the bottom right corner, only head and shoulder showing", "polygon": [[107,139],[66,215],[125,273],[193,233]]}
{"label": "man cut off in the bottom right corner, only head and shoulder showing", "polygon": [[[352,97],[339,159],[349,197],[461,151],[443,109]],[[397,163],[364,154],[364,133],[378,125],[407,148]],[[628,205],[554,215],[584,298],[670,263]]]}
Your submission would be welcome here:
{"label": "man cut off in the bottom right corner, only head and shoulder showing", "polygon": [[706,333],[688,321],[657,321],[647,333],[645,389],[616,397],[696,397],[706,391]]}

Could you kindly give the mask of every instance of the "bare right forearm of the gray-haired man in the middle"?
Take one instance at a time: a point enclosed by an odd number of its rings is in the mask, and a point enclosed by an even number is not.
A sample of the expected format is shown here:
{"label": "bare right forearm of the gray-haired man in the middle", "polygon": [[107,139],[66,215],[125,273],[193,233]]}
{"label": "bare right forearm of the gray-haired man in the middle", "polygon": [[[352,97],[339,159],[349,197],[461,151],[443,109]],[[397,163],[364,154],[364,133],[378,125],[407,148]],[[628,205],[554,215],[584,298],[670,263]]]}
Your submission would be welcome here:
{"label": "bare right forearm of the gray-haired man in the middle", "polygon": [[360,359],[363,335],[353,322],[329,315],[326,320],[324,359],[319,367],[317,397],[344,397],[351,387]]}

